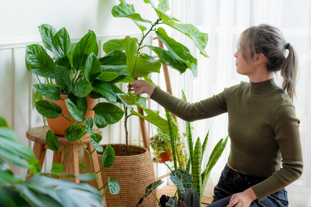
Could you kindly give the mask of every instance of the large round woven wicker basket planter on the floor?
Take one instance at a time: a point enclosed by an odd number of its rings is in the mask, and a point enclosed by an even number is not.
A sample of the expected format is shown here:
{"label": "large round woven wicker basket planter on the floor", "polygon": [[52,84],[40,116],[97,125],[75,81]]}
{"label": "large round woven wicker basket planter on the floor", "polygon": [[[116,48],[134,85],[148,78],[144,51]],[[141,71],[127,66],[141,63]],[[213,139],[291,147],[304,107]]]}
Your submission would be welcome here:
{"label": "large round woven wicker basket planter on the floor", "polygon": [[[120,184],[120,192],[111,195],[106,191],[105,197],[108,207],[136,207],[139,200],[145,195],[146,187],[155,181],[155,172],[150,152],[145,147],[129,145],[129,154],[126,154],[125,144],[110,144],[116,156],[112,166],[101,171],[103,183],[108,176],[116,179]],[[105,149],[107,145],[102,145]],[[102,168],[102,152],[97,152],[100,169]],[[151,194],[146,197],[140,207],[156,207],[157,202]]]}

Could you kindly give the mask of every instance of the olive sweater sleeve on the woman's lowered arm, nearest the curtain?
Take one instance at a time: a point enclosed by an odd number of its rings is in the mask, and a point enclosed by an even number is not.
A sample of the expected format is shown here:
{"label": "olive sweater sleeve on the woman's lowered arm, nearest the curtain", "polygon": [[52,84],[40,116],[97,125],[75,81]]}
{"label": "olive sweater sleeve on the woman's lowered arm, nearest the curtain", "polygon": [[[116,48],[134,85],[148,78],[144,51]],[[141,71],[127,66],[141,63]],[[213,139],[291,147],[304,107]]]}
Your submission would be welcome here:
{"label": "olive sweater sleeve on the woman's lowered arm, nearest the curtain", "polygon": [[274,132],[280,146],[282,167],[263,182],[251,187],[258,201],[288,186],[302,175],[299,123],[292,104],[283,105],[276,110]]}

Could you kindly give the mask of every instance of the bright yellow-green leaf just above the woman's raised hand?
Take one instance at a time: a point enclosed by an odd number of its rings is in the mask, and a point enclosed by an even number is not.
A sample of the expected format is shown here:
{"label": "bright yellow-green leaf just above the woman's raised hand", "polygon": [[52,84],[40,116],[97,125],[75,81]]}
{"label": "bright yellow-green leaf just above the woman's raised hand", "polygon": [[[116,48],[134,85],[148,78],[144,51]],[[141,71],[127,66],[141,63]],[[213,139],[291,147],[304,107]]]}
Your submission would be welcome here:
{"label": "bright yellow-green leaf just above the woman's raised hand", "polygon": [[137,56],[137,43],[134,39],[126,37],[123,41],[127,55],[128,72],[132,77],[144,77],[150,72],[160,72],[160,62],[150,62]]}

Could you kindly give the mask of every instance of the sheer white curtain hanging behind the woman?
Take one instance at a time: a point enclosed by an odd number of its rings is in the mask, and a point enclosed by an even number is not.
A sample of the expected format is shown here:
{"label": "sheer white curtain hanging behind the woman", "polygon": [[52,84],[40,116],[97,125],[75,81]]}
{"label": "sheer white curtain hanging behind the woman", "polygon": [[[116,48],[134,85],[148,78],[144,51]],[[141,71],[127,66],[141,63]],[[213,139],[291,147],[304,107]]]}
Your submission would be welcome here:
{"label": "sheer white curtain hanging behind the woman", "polygon": [[[178,32],[175,38],[186,43],[198,59],[198,76],[190,72],[179,75],[171,70],[173,93],[181,97],[184,88],[189,102],[196,102],[217,94],[225,87],[238,84],[241,80],[249,81],[235,71],[236,40],[245,28],[260,23],[272,24],[283,32],[285,38],[297,50],[300,60],[300,76],[297,83],[297,99],[294,101],[297,116],[301,120],[300,133],[304,152],[304,174],[290,189],[302,191],[310,196],[311,163],[311,1],[310,0],[172,0],[172,14],[182,23],[191,23],[209,34],[206,47],[210,58],[199,54],[191,41]],[[281,78],[276,77],[279,85]],[[194,122],[194,136],[204,138],[211,127],[210,139],[205,154],[206,163],[213,146],[220,138],[228,134],[228,115]],[[205,189],[205,195],[213,195],[220,172],[228,155],[229,145],[215,166]],[[298,187],[297,187],[298,186]],[[310,204],[311,205],[311,204]],[[303,205],[307,206],[307,205]]]}

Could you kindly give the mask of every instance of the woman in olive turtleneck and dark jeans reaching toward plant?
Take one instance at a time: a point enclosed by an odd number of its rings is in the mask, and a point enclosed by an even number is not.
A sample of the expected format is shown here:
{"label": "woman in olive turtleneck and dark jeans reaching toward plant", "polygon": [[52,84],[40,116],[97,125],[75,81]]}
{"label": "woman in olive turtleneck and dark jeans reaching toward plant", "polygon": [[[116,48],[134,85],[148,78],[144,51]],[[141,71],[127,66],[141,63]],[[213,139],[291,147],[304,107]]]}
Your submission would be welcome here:
{"label": "woman in olive turtleneck and dark jeans reaching toward plant", "polygon": [[[130,90],[151,95],[186,121],[228,112],[231,151],[209,207],[287,207],[284,187],[303,171],[300,121],[292,103],[296,53],[277,28],[261,24],[242,32],[234,57],[236,71],[247,75],[250,82],[240,82],[194,104],[143,80],[131,83]],[[283,77],[282,89],[273,79],[278,70]]]}

